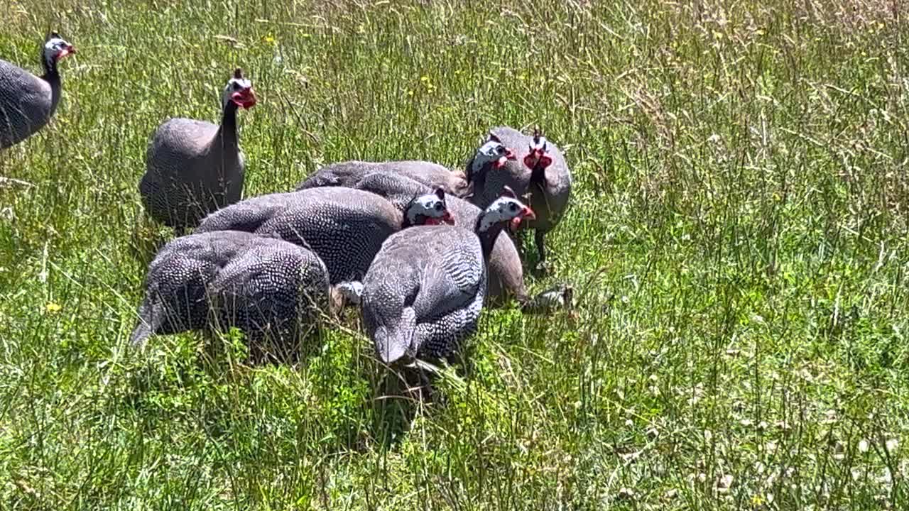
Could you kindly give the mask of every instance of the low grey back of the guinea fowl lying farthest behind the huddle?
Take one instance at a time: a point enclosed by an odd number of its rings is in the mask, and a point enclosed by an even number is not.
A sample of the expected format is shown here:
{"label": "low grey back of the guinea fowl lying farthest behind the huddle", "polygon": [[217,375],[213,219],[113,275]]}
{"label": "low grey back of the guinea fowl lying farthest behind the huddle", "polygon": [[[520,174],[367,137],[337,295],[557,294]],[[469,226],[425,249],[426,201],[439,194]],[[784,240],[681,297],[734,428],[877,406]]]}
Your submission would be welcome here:
{"label": "low grey back of the guinea fowl lying farthest behind the huddle", "polygon": [[325,165],[296,185],[296,189],[305,190],[319,186],[353,187],[363,176],[375,172],[404,175],[434,189],[442,187],[448,195],[463,196],[467,193],[467,179],[464,173],[431,162],[416,160],[349,161]]}

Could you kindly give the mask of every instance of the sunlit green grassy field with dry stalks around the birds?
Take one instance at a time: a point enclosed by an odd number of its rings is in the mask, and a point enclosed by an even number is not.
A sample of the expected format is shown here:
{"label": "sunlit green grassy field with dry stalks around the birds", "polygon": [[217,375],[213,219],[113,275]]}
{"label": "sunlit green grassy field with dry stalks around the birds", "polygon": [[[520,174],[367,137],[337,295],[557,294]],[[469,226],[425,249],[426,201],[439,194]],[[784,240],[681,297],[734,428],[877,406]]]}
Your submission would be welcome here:
{"label": "sunlit green grassy field with dry stalks around the birds", "polygon": [[[0,155],[0,506],[909,506],[904,2],[0,0],[0,57],[78,49]],[[575,314],[484,314],[445,399],[386,399],[335,329],[299,366],[127,346],[136,185],[235,65],[246,195],[337,160],[463,165],[541,125],[574,170],[551,236]],[[529,246],[529,245],[528,245]]]}

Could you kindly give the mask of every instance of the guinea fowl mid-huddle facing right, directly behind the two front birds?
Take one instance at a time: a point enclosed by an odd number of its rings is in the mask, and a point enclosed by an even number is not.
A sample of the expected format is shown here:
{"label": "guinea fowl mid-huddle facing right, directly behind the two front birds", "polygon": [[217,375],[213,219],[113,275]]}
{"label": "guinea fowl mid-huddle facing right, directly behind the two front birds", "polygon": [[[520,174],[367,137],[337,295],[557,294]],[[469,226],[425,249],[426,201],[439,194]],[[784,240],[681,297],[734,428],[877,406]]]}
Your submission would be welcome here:
{"label": "guinea fowl mid-huddle facing right, directly behind the two front birds", "polygon": [[247,199],[209,215],[195,232],[248,229],[305,246],[325,261],[334,286],[361,280],[389,235],[450,221],[441,190],[414,197],[402,214],[379,195],[326,186]]}

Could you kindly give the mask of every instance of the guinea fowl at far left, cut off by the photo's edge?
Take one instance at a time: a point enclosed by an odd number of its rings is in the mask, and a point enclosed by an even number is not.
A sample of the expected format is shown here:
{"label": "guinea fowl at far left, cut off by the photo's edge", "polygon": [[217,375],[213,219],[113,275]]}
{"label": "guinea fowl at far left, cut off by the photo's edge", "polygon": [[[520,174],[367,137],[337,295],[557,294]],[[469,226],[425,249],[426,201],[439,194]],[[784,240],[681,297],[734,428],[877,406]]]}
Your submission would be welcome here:
{"label": "guinea fowl at far left, cut off by the photo's edge", "polygon": [[35,135],[50,121],[63,90],[57,64],[72,54],[73,45],[53,32],[47,35],[41,50],[44,75],[35,76],[0,60],[0,149]]}

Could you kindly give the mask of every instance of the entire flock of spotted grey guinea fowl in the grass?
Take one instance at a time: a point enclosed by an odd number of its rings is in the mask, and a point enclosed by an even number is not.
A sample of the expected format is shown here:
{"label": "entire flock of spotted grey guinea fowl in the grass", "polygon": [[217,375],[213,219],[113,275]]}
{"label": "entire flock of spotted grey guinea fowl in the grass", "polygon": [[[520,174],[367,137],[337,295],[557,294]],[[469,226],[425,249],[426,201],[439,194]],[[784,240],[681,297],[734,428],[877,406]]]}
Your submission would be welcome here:
{"label": "entire flock of spotted grey guinea fowl in the grass", "polygon": [[[35,134],[61,95],[57,65],[75,48],[45,39],[45,74],[0,60],[0,149]],[[132,343],[234,326],[254,355],[293,354],[325,313],[359,306],[385,364],[453,356],[481,310],[571,303],[571,287],[527,296],[513,235],[544,235],[571,193],[564,156],[538,132],[490,130],[464,172],[423,161],[325,165],[295,191],[242,199],[237,111],[255,105],[240,69],[219,125],[159,125],[139,184],[147,215],[175,230],[145,277]],[[505,230],[507,234],[502,234]]]}

